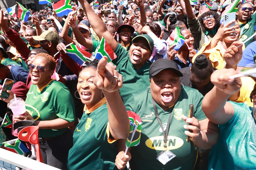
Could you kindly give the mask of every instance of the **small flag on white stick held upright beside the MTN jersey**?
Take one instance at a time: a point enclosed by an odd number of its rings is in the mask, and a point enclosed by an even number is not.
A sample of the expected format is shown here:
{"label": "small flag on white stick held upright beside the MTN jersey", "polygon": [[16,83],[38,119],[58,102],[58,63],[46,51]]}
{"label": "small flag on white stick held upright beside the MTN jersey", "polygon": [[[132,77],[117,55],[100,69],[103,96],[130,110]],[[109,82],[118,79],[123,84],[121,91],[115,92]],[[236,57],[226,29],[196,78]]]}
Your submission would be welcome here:
{"label": "small flag on white stick held upright beside the MTN jersey", "polygon": [[130,119],[130,133],[125,143],[126,145],[125,155],[129,147],[140,145],[140,136],[141,136],[140,116],[131,111],[127,111],[127,114]]}

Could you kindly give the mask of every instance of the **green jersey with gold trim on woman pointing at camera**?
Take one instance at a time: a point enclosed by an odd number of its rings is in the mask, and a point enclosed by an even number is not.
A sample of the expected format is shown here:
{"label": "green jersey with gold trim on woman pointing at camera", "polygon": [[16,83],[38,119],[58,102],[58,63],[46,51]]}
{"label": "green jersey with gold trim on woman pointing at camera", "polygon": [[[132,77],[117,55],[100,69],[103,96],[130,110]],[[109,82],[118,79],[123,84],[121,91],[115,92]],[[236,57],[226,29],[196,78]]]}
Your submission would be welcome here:
{"label": "green jersey with gold trim on woman pointing at camera", "polygon": [[[102,104],[103,101],[100,102]],[[68,169],[117,169],[115,157],[118,150],[116,142],[112,143],[113,141],[108,140],[109,119],[106,103],[91,113],[85,112],[73,134],[73,147],[68,155]]]}

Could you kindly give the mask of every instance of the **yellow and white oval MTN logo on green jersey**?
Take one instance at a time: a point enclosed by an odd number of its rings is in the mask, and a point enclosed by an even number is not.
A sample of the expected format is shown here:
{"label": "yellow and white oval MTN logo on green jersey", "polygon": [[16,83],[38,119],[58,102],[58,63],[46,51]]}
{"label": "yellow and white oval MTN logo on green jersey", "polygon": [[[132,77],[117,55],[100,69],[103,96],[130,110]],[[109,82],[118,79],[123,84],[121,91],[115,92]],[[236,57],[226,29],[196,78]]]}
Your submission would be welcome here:
{"label": "yellow and white oval MTN logo on green jersey", "polygon": [[[184,141],[176,136],[168,136],[167,137],[167,149],[173,150],[180,148],[183,145]],[[149,138],[145,142],[146,146],[150,149],[163,151],[165,148],[163,147],[163,136],[155,136]]]}

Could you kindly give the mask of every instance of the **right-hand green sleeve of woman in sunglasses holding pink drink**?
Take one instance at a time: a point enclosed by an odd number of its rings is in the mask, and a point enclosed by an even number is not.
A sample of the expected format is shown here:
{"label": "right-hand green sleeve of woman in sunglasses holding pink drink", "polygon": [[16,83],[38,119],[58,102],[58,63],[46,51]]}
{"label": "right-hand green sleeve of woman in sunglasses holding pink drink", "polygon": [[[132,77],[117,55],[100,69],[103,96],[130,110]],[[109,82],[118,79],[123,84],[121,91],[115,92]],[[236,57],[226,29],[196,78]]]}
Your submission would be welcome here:
{"label": "right-hand green sleeve of woman in sunglasses holding pink drink", "polygon": [[54,103],[56,115],[68,122],[75,120],[75,106],[69,89],[65,86],[55,95]]}

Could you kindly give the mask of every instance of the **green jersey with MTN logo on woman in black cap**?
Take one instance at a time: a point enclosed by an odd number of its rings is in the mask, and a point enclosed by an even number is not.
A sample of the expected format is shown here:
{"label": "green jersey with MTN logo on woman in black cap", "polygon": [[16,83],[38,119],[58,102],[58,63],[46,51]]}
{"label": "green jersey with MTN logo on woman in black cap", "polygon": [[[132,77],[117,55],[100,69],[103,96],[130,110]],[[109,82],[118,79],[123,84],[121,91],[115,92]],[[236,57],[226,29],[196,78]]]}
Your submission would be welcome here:
{"label": "green jersey with MTN logo on woman in black cap", "polygon": [[[166,130],[168,118],[171,115],[170,128],[167,138],[167,149],[176,157],[166,165],[160,163],[156,156],[164,149],[163,132],[154,114],[150,88],[142,90],[126,102],[127,111],[137,113],[142,121],[140,145],[131,148],[131,169],[193,169],[197,159],[197,147],[192,141],[186,141],[184,125],[186,122],[182,115],[188,116],[189,104],[194,104],[194,114],[198,120],[206,118],[202,111],[203,96],[196,89],[186,87],[181,89],[181,94],[174,106],[164,111],[157,103],[157,110]],[[135,168],[136,169],[136,168]]]}

